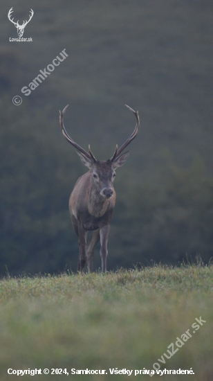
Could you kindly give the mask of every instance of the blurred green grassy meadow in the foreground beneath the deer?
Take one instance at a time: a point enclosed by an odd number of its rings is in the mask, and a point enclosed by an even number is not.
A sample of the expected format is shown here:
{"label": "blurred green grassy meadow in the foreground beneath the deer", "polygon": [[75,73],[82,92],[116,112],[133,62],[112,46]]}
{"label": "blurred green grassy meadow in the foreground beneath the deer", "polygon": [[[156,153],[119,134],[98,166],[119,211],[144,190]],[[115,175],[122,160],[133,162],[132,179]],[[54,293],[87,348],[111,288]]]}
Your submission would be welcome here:
{"label": "blurred green grassy meadow in the foreground beneath the deer", "polygon": [[[192,367],[194,375],[173,375],[172,380],[212,381],[212,290],[212,265],[201,264],[3,279],[1,380],[17,380],[7,374],[8,368],[69,372],[33,380],[135,379],[110,375],[109,368],[153,369],[167,346],[189,329],[192,337],[160,369]],[[199,317],[206,323],[192,333]],[[72,368],[106,369],[108,374],[71,375]],[[149,380],[149,375],[137,379]]]}

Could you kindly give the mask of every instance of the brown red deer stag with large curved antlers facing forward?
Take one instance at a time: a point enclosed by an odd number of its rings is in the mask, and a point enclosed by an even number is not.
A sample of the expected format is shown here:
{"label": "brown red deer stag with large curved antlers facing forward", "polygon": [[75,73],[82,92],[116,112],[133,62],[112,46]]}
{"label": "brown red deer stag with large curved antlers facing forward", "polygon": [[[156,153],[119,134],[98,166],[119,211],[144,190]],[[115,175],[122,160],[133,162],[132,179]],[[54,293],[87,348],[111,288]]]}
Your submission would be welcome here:
{"label": "brown red deer stag with large curved antlers facing forward", "polygon": [[[105,272],[107,270],[107,242],[110,222],[115,206],[115,190],[113,188],[115,169],[122,166],[129,156],[129,151],[123,154],[121,152],[136,137],[140,125],[139,116],[138,112],[127,106],[136,116],[136,128],[119,150],[118,145],[116,145],[111,159],[101,161],[95,159],[90,145],[88,153],[68,136],[64,127],[64,113],[67,107],[68,105],[62,112],[59,112],[62,132],[66,140],[76,148],[76,152],[80,156],[84,166],[89,168],[89,172],[86,172],[77,180],[69,200],[71,220],[75,233],[79,238],[80,250],[77,269],[79,272],[82,272],[87,262],[89,271],[93,270],[93,253],[95,245],[100,240],[102,272]],[[86,245],[87,232],[91,230],[93,235],[90,242]]]}

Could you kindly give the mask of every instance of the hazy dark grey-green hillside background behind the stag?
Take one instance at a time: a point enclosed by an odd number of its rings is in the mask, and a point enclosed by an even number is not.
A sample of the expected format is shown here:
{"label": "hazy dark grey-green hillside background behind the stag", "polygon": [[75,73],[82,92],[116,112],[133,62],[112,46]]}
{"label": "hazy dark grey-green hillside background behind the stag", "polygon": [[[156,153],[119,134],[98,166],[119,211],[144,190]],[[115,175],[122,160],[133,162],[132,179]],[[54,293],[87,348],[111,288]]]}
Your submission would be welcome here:
{"label": "hazy dark grey-green hillside background behind the stag", "polygon": [[[33,8],[23,36],[33,42],[9,42],[17,37],[11,7],[19,24]],[[140,115],[115,179],[108,269],[210,260],[212,1],[11,0],[0,17],[1,276],[77,268],[68,198],[86,167],[59,128],[67,104],[68,133],[98,159],[133,131],[124,103]],[[64,48],[66,60],[21,94]]]}

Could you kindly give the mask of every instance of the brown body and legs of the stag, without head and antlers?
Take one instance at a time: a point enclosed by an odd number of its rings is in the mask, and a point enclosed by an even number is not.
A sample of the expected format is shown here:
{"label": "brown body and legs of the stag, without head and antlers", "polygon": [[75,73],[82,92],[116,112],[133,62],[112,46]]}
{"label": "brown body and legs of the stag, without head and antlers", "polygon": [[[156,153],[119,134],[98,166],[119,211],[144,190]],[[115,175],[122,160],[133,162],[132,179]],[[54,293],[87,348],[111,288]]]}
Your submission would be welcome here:
{"label": "brown body and legs of the stag, without head and antlers", "polygon": [[[100,256],[102,258],[102,271],[107,267],[107,241],[110,222],[115,206],[115,190],[113,196],[106,199],[95,188],[91,170],[77,180],[71,193],[69,209],[75,233],[79,237],[80,257],[78,271],[82,271],[87,262],[89,270],[93,269],[93,253],[95,245],[102,236]],[[93,236],[86,246],[87,231],[93,231]]]}

